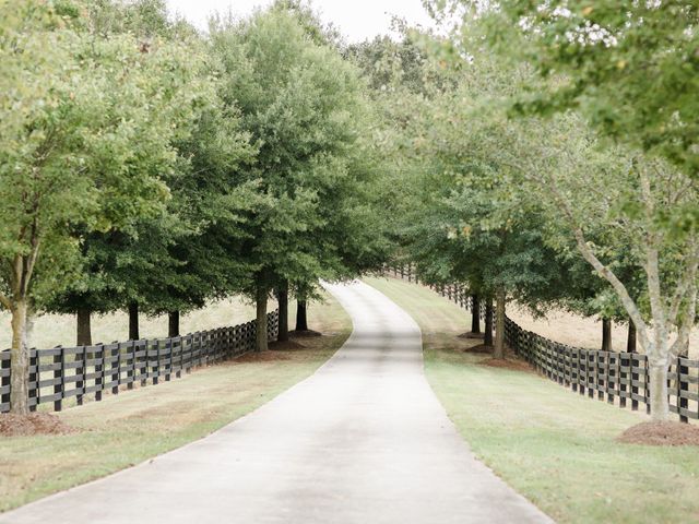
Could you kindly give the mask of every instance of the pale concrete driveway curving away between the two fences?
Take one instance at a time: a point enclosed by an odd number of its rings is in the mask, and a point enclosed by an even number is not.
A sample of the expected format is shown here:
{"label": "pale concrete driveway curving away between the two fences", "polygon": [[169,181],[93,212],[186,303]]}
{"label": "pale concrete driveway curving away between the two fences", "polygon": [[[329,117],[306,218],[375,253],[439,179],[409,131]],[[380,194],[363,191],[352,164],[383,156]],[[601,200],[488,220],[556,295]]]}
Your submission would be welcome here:
{"label": "pale concrete driveway curving away between the two fences", "polygon": [[457,434],[413,319],[365,284],[329,289],[354,332],[316,374],[203,440],[0,523],[550,522]]}

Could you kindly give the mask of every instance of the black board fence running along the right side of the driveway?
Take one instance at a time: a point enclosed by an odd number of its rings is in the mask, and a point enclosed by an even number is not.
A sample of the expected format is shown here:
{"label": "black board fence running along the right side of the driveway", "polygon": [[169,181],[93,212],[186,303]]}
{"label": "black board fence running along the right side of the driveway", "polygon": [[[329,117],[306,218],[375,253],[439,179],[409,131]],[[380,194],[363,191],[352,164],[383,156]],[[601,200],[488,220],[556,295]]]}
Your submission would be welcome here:
{"label": "black board fence running along the right side of the driveway", "polygon": [[[412,266],[387,267],[386,273],[418,284]],[[429,285],[445,298],[473,312],[471,296],[461,284]],[[481,305],[479,317],[485,317]],[[506,317],[505,343],[538,372],[573,392],[650,413],[649,362],[639,353],[603,352],[568,346],[526,331]],[[687,422],[699,419],[699,360],[677,357],[668,370],[670,409]]]}

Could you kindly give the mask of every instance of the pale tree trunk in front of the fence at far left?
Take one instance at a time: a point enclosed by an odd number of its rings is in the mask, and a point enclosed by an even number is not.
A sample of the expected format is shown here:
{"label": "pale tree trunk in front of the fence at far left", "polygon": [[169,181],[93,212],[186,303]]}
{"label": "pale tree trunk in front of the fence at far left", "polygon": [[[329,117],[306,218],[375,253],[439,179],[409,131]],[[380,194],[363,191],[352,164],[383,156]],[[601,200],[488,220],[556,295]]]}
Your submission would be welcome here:
{"label": "pale tree trunk in front of the fence at far left", "polygon": [[29,348],[26,345],[26,300],[12,309],[12,348],[10,349],[10,412],[29,413]]}

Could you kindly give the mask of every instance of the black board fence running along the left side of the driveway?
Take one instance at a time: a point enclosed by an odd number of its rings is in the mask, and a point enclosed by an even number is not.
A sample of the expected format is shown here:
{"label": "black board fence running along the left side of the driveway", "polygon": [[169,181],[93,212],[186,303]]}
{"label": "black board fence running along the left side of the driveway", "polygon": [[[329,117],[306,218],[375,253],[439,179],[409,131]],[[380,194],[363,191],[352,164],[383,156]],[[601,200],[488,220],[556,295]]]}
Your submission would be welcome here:
{"label": "black board fence running along the left side of the driveway", "polygon": [[[268,313],[268,335],[279,335],[279,312]],[[29,409],[52,403],[60,412],[63,400],[86,395],[102,401],[102,393],[119,393],[126,385],[157,384],[192,368],[221,362],[254,349],[257,322],[201,331],[183,336],[153,338],[94,346],[32,349],[29,352]],[[10,410],[10,350],[0,352],[0,413]]]}

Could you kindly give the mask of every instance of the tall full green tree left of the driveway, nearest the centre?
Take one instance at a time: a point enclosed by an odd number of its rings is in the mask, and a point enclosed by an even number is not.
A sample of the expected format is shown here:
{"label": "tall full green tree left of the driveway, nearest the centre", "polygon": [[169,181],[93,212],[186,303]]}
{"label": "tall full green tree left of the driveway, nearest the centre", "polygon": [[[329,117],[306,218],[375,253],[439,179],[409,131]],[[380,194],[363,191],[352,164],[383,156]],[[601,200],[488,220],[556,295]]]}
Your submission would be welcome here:
{"label": "tall full green tree left of the driveway, nearest the centre", "polygon": [[286,283],[308,289],[330,274],[331,258],[341,260],[333,228],[350,207],[330,204],[360,175],[353,148],[366,111],[363,84],[337,50],[309,38],[284,5],[245,21],[220,20],[212,43],[225,67],[223,99],[240,108],[242,127],[259,146],[249,172],[257,198],[239,257],[253,267],[240,290],[257,302],[263,350],[271,291]]}

